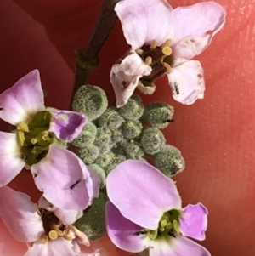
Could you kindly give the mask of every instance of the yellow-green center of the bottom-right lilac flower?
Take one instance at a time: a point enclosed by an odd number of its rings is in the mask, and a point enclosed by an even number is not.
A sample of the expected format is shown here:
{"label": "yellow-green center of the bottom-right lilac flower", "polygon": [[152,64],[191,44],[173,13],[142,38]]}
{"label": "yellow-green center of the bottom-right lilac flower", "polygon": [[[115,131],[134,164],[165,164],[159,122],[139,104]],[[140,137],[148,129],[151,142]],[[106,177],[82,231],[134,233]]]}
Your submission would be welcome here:
{"label": "yellow-green center of the bottom-right lilac flower", "polygon": [[148,234],[152,240],[161,238],[162,236],[178,236],[180,233],[178,221],[180,215],[181,212],[178,210],[171,210],[164,213],[161,217],[157,230],[143,230],[136,235]]}

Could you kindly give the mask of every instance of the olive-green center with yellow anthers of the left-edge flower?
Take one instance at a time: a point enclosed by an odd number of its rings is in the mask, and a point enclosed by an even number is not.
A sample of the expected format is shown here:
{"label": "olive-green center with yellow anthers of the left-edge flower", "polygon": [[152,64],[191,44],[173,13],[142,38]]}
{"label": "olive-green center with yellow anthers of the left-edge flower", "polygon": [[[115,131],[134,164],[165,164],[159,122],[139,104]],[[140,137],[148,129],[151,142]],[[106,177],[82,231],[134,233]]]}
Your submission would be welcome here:
{"label": "olive-green center with yellow anthers of the left-edge flower", "polygon": [[49,145],[56,139],[48,132],[52,116],[48,111],[40,111],[31,122],[17,124],[17,139],[21,147],[21,158],[31,166],[39,162],[48,153]]}

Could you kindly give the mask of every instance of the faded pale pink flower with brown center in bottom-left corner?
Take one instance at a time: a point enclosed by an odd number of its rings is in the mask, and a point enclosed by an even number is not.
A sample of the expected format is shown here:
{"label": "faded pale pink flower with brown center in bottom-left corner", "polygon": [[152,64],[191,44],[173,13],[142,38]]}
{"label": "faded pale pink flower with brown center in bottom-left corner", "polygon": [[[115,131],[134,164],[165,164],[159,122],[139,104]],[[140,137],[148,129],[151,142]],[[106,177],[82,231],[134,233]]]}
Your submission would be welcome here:
{"label": "faded pale pink flower with brown center in bottom-left corner", "polygon": [[31,202],[26,194],[8,186],[0,188],[0,216],[4,224],[18,241],[34,242],[24,256],[77,256],[77,242],[89,246],[87,236],[71,225],[80,216],[75,213],[75,217],[74,213],[62,211],[63,220],[54,211]]}

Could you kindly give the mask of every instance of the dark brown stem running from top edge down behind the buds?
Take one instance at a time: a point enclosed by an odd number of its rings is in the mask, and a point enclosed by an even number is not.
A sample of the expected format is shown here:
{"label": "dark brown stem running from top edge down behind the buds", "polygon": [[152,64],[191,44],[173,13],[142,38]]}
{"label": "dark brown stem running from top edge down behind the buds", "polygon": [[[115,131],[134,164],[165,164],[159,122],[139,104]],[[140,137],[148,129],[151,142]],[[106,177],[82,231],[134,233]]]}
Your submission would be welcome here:
{"label": "dark brown stem running from top edge down behind the buds", "polygon": [[90,38],[88,47],[77,51],[77,70],[71,101],[77,89],[86,82],[89,73],[99,66],[98,54],[116,24],[117,16],[114,8],[116,3],[120,1],[104,0],[100,6],[94,32]]}

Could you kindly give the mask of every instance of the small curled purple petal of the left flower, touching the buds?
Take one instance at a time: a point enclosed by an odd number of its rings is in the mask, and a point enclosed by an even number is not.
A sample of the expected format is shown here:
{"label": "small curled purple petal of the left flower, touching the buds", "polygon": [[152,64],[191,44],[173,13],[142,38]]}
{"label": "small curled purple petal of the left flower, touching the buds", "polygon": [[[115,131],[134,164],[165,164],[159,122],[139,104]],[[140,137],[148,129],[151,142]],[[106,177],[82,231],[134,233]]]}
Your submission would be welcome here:
{"label": "small curled purple petal of the left flower, touching the buds", "polygon": [[88,118],[82,112],[50,110],[52,122],[49,131],[54,132],[59,139],[71,142],[82,132]]}

